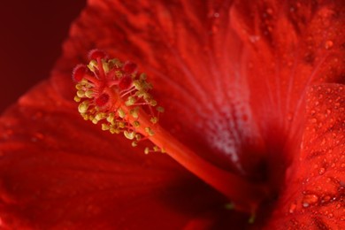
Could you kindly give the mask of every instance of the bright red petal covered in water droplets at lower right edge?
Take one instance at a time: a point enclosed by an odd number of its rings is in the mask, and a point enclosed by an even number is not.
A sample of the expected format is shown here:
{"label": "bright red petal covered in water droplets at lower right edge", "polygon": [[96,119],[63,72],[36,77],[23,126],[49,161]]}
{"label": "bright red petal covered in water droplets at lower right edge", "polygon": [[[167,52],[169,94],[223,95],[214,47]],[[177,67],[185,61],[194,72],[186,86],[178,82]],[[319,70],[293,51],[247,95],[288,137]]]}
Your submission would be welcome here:
{"label": "bright red petal covered in water droplets at lower right edge", "polygon": [[268,229],[343,228],[344,85],[325,84],[311,88],[302,150],[288,170],[286,181]]}

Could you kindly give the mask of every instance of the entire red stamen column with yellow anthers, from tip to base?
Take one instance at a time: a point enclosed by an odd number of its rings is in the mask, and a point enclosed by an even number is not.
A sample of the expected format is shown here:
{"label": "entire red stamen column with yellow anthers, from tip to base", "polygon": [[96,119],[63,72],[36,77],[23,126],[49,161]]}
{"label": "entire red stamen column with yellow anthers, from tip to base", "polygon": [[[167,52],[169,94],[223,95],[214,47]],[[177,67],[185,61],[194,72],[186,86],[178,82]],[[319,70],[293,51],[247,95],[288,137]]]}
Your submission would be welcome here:
{"label": "entire red stamen column with yellow anthers, from tip to base", "polygon": [[145,73],[137,72],[132,62],[122,63],[109,59],[101,50],[92,50],[88,65],[77,65],[73,71],[76,81],[80,115],[100,124],[111,134],[124,134],[135,147],[143,140],[152,145],[145,153],[166,152],[191,173],[219,190],[239,211],[254,214],[267,196],[265,186],[252,184],[234,173],[227,172],[199,157],[178,142],[158,125],[159,114],[164,111],[149,93]]}

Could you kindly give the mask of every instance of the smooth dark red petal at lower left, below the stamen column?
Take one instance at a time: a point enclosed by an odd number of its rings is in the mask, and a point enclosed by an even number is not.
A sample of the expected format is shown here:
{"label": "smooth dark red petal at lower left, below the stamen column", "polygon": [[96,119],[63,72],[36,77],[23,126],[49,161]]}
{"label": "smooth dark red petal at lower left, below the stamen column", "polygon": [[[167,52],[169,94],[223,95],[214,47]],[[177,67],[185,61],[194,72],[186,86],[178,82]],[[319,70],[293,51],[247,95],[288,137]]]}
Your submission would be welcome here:
{"label": "smooth dark red petal at lower left, below the stamen column", "polygon": [[170,157],[85,122],[49,82],[4,115],[0,134],[3,227],[180,229],[210,211],[232,215]]}

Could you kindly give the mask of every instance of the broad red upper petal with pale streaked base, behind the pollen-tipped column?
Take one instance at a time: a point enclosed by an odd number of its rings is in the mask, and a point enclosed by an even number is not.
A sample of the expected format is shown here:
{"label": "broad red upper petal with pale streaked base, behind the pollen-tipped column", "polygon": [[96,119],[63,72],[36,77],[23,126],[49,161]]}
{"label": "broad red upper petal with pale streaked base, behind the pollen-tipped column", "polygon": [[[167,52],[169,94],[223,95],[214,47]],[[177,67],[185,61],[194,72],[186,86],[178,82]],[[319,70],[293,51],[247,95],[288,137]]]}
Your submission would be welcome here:
{"label": "broad red upper petal with pale streaked base, behind the pollen-tipped column", "polygon": [[203,157],[241,170],[243,146],[254,149],[260,139],[239,75],[242,45],[230,25],[231,4],[90,1],[65,43],[55,84],[70,98],[70,70],[95,47],[130,59],[153,81],[166,111],[161,125]]}

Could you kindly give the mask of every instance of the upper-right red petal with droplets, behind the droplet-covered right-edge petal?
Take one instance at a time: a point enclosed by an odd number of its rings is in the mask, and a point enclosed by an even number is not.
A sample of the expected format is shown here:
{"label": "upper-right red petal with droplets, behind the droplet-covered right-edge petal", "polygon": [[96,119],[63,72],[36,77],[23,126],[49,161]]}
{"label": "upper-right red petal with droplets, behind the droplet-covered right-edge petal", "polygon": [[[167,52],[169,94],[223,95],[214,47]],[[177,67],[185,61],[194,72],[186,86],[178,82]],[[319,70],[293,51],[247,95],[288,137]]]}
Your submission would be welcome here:
{"label": "upper-right red petal with droplets, behind the droplet-covered right-edge petal", "polygon": [[[291,149],[298,148],[308,88],[345,82],[344,11],[340,1],[234,5],[232,23],[246,42],[242,68],[251,108],[275,164],[287,164],[294,157]],[[277,159],[277,152],[284,159]]]}

